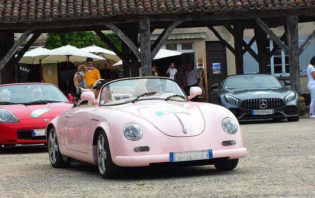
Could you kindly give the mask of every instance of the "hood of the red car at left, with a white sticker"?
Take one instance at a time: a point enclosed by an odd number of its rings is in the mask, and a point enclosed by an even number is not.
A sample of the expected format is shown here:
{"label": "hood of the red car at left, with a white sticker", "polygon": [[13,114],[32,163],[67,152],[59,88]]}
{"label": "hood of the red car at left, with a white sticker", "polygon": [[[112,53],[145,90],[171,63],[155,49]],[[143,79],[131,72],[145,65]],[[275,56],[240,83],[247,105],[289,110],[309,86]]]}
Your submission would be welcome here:
{"label": "hood of the red car at left, with a white sticker", "polygon": [[[47,104],[14,104],[14,105],[1,105],[1,108],[9,110],[18,119],[29,118],[55,118],[57,115],[72,107],[72,104],[64,102],[53,102]],[[32,115],[32,116],[31,116]]]}

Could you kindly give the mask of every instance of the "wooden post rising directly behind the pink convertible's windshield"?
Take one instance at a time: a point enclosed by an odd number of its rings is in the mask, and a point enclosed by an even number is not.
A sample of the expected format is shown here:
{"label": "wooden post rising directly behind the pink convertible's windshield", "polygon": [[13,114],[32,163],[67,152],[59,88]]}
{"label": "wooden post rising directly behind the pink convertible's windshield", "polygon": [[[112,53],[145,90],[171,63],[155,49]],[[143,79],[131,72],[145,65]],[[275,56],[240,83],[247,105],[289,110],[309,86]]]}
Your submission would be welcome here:
{"label": "wooden post rising directly behind the pink convertible's windshield", "polygon": [[139,22],[140,32],[140,62],[142,76],[152,76],[152,58],[150,45],[150,21]]}

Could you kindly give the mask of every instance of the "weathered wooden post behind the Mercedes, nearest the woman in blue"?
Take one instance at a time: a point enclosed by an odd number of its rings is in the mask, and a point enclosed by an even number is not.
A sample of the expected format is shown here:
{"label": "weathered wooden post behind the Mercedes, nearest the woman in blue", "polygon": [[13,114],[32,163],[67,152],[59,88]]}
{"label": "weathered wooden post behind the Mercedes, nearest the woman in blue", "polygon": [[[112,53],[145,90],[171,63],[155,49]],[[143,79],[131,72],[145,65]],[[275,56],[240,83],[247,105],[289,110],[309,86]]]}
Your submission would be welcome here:
{"label": "weathered wooden post behind the Mercedes, nearest the woman in blue", "polygon": [[289,16],[286,18],[287,25],[287,44],[289,49],[289,68],[291,88],[296,90],[299,96],[302,96],[301,79],[300,79],[300,64],[299,64],[299,40],[298,40],[298,17]]}

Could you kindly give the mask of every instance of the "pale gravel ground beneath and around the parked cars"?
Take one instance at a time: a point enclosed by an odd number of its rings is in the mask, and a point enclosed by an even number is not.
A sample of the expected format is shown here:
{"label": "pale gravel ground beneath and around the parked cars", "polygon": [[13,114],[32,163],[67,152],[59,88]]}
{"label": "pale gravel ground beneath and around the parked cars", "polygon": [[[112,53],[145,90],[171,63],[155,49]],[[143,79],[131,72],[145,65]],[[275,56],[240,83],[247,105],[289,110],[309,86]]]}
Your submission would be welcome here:
{"label": "pale gravel ground beneath and around the parked cars", "polygon": [[2,198],[297,198],[315,195],[314,119],[241,122],[249,153],[233,171],[214,166],[158,171],[129,168],[101,179],[95,166],[50,165],[46,146],[2,148]]}

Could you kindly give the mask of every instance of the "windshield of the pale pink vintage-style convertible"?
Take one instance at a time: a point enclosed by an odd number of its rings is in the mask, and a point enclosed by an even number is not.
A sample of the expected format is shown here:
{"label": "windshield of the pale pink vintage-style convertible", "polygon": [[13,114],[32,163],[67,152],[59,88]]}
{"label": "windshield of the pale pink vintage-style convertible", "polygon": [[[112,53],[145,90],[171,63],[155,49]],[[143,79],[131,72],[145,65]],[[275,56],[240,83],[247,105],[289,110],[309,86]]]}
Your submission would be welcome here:
{"label": "windshield of the pale pink vintage-style convertible", "polygon": [[125,78],[107,83],[100,93],[100,105],[117,105],[145,99],[188,101],[187,96],[170,78]]}

